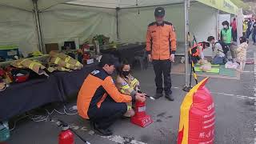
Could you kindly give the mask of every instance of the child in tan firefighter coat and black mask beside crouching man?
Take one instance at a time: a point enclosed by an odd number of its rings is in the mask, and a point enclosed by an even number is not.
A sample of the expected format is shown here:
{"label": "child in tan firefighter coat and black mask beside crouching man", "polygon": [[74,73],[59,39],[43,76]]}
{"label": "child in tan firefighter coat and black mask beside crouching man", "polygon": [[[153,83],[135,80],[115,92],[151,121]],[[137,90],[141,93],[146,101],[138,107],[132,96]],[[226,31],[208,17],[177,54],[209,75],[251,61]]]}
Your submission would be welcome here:
{"label": "child in tan firefighter coat and black mask beside crouching man", "polygon": [[[118,77],[116,79],[116,86],[122,94],[127,95],[134,95],[138,93],[138,90],[140,89],[138,79],[134,78],[130,74],[130,65],[127,61],[123,61],[122,66],[118,67]],[[135,112],[132,108],[132,102],[128,102],[126,104],[128,106],[128,110],[126,114],[124,114],[124,116],[134,116]]]}

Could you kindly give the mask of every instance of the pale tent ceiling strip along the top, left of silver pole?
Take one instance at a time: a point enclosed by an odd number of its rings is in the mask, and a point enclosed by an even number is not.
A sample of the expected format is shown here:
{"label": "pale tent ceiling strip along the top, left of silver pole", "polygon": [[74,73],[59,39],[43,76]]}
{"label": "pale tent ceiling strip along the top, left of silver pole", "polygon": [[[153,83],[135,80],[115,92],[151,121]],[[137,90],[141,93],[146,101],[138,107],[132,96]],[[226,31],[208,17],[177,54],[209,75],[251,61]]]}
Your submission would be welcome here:
{"label": "pale tent ceiling strip along the top, left of silver pole", "polygon": [[[10,6],[21,10],[32,11],[34,9],[33,0],[1,0],[0,6]],[[45,10],[60,3],[68,3],[82,6],[97,6],[105,8],[152,6],[183,2],[183,0],[38,0],[38,9]]]}

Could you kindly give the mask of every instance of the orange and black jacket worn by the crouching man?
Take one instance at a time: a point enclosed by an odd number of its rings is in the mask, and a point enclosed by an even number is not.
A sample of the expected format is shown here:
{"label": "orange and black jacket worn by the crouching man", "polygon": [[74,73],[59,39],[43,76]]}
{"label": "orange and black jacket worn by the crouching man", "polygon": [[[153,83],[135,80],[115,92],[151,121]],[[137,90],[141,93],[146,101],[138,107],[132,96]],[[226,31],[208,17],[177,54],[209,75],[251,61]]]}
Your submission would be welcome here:
{"label": "orange and black jacket worn by the crouching man", "polygon": [[115,102],[132,102],[134,99],[129,95],[121,94],[105,70],[94,70],[85,79],[78,93],[78,114],[82,118],[90,119],[88,111],[94,110],[95,107],[100,108],[108,95]]}

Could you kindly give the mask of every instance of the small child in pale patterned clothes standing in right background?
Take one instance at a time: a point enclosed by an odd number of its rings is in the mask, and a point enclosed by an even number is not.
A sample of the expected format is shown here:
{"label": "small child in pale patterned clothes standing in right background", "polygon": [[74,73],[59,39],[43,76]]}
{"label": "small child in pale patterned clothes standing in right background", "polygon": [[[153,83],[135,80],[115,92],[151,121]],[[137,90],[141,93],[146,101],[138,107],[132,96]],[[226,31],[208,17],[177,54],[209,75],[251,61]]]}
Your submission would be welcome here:
{"label": "small child in pale patterned clothes standing in right background", "polygon": [[246,57],[247,57],[247,48],[248,48],[248,41],[246,37],[239,38],[240,45],[237,49],[237,62],[240,63],[240,71],[244,70],[246,65]]}

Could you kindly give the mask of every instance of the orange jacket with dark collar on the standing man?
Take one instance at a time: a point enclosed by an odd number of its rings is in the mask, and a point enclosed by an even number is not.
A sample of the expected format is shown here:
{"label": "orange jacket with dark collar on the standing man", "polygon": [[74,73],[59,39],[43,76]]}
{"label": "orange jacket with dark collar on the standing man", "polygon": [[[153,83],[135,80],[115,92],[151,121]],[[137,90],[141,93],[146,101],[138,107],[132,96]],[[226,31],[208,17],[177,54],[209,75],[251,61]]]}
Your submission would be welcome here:
{"label": "orange jacket with dark collar on the standing man", "polygon": [[170,59],[170,54],[175,54],[176,45],[174,26],[170,22],[150,23],[146,33],[146,52],[154,60]]}

